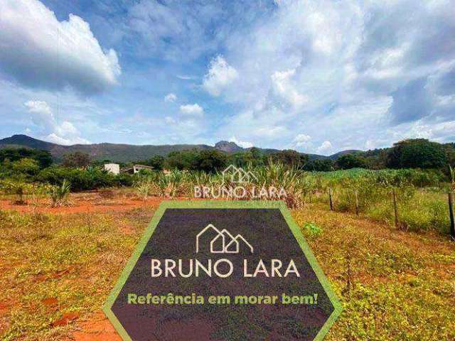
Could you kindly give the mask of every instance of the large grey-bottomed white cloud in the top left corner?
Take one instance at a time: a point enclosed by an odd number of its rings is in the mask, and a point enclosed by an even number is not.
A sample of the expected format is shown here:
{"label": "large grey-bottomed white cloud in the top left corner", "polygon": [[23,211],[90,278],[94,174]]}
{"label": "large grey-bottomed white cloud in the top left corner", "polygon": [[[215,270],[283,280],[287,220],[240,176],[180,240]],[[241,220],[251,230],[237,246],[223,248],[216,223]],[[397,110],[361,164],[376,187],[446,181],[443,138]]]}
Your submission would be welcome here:
{"label": "large grey-bottomed white cloud in the top left corner", "polygon": [[82,18],[58,21],[38,0],[0,0],[0,6],[0,70],[23,85],[84,94],[117,84],[117,53],[103,50]]}

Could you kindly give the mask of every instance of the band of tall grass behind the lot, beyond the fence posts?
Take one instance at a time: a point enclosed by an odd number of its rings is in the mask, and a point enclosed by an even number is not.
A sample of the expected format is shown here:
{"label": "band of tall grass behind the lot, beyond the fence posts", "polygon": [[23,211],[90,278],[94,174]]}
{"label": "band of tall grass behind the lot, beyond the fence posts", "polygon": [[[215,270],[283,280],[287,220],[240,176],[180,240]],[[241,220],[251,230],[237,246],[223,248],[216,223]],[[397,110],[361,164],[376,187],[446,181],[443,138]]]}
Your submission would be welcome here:
{"label": "band of tall grass behind the lot, beyond the fence posts", "polygon": [[[282,163],[269,162],[266,166],[247,165],[255,177],[242,183],[245,188],[243,200],[276,200],[254,188],[283,188],[287,193],[282,200],[288,207],[299,208],[311,203],[328,207],[328,188],[333,193],[334,209],[341,212],[358,212],[374,220],[395,224],[392,205],[392,191],[397,196],[399,225],[402,229],[419,231],[435,230],[446,233],[449,230],[448,208],[444,192],[450,185],[444,182],[444,175],[434,171],[381,170],[304,172],[289,168]],[[223,174],[200,171],[149,172],[137,182],[138,194],[142,197],[193,197],[195,186],[224,188],[238,186]],[[228,197],[235,199],[235,197]],[[358,207],[355,207],[355,203]]]}

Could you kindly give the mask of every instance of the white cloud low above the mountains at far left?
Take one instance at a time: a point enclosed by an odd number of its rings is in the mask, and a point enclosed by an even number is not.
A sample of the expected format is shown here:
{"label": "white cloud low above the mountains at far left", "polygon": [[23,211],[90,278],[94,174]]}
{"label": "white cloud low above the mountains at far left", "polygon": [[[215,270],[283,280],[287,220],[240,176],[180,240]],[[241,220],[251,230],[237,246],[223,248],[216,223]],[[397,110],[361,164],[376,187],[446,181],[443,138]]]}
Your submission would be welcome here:
{"label": "white cloud low above the mountains at far left", "polygon": [[43,139],[55,144],[90,144],[90,141],[80,137],[80,131],[70,121],[59,122],[55,119],[53,110],[47,102],[28,101],[24,103],[31,113],[33,124],[41,129]]}

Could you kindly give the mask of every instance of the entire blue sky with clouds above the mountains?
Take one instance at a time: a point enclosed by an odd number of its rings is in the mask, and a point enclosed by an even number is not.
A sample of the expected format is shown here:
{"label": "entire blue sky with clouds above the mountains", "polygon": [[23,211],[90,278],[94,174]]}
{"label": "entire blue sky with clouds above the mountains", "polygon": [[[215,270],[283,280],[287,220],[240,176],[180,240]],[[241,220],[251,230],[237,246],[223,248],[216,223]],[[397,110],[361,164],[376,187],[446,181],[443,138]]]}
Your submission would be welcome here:
{"label": "entire blue sky with clouds above the mountains", "polygon": [[455,0],[0,0],[0,138],[455,141]]}

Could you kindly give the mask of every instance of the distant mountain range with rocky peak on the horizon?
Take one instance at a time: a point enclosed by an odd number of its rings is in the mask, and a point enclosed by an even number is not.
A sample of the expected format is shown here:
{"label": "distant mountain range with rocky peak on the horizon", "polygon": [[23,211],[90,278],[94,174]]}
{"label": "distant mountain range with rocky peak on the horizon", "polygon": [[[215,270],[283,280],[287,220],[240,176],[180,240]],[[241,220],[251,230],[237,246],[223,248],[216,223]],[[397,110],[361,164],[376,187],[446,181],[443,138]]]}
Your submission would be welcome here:
{"label": "distant mountain range with rocky peak on the horizon", "polygon": [[[215,149],[218,151],[225,151],[226,153],[235,153],[239,151],[247,151],[250,148],[242,148],[237,146],[234,142],[219,141],[215,146],[208,146],[206,144],[164,144],[159,146],[144,145],[137,146],[132,144],[74,144],[73,146],[62,146],[60,144],[53,144],[51,142],[41,141],[34,139],[27,135],[13,135],[5,139],[0,139],[0,148],[8,147],[26,147],[43,149],[50,151],[56,161],[60,161],[65,153],[74,153],[76,151],[87,153],[95,160],[110,160],[114,162],[129,162],[138,161],[151,158],[152,156],[167,156],[172,151],[184,151],[196,148],[198,150]],[[259,148],[263,153],[274,153],[279,149]],[[338,156],[346,153],[355,153],[359,151],[341,151],[331,156],[322,156],[317,154],[308,154],[310,159],[315,158],[331,158],[336,160]]]}

